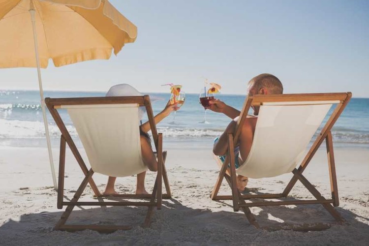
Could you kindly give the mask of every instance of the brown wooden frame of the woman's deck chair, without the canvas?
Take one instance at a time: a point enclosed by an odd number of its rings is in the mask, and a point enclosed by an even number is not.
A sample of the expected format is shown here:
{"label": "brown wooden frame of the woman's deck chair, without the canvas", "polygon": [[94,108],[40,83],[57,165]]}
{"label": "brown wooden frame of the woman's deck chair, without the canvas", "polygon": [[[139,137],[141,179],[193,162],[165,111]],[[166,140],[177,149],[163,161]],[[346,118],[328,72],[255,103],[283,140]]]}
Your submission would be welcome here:
{"label": "brown wooden frame of the woman's deck chair, without the canvas", "polygon": [[[62,214],[61,219],[58,221],[55,230],[64,230],[64,231],[77,231],[77,230],[85,230],[91,229],[99,232],[113,232],[116,230],[128,230],[131,226],[121,226],[121,225],[67,225],[66,220],[71,214],[73,208],[75,206],[147,206],[148,212],[146,214],[144,227],[150,226],[151,217],[153,215],[154,207],[157,209],[161,209],[162,199],[170,199],[171,198],[171,190],[169,186],[168,176],[165,169],[165,159],[166,159],[166,151],[162,150],[162,133],[157,133],[156,125],[154,123],[154,114],[153,109],[151,107],[150,97],[149,95],[144,96],[115,96],[115,97],[79,97],[79,98],[45,98],[45,103],[55,120],[55,123],[58,125],[60,131],[62,132],[61,136],[61,144],[60,144],[60,161],[59,161],[59,187],[58,187],[58,209],[62,209],[65,205],[67,206],[65,212]],[[154,145],[157,154],[157,175],[154,183],[154,188],[152,194],[139,195],[139,194],[118,194],[112,195],[113,197],[125,198],[125,199],[150,199],[150,201],[145,202],[133,202],[133,201],[117,201],[117,202],[79,202],[79,198],[82,195],[84,189],[89,183],[94,196],[97,198],[103,198],[103,194],[101,194],[96,187],[92,179],[93,170],[88,169],[84,160],[82,159],[81,154],[79,153],[76,145],[74,144],[68,130],[65,127],[65,124],[62,121],[62,118],[59,115],[58,108],[61,108],[62,105],[91,105],[91,104],[128,104],[128,103],[137,103],[139,106],[145,106],[146,112],[148,115]],[[73,198],[70,201],[63,200],[63,190],[64,190],[64,168],[65,168],[65,144],[68,144],[71,152],[76,158],[79,166],[82,169],[82,172],[85,175],[84,180],[78,187],[75,192]],[[166,194],[162,194],[162,181],[164,181]],[[111,196],[109,196],[111,197]]]}

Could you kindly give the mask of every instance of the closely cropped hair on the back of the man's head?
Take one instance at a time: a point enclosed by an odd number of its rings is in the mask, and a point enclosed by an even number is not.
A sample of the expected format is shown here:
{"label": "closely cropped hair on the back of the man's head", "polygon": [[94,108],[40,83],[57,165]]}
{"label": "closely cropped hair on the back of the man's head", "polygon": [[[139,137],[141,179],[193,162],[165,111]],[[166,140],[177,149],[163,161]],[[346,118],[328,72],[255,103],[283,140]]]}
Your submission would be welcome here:
{"label": "closely cropped hair on the back of the man's head", "polygon": [[280,80],[276,76],[269,73],[259,74],[258,76],[252,78],[248,84],[252,84],[252,87],[255,86],[257,92],[259,92],[261,88],[265,88],[270,94],[283,93],[283,86]]}

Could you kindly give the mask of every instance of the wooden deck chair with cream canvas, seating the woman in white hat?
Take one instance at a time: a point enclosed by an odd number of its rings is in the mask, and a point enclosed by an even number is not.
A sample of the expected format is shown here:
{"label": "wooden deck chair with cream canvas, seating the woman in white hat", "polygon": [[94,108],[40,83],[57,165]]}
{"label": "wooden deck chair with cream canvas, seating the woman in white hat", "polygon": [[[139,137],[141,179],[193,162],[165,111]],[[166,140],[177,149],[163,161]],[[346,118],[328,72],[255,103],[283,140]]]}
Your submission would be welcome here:
{"label": "wooden deck chair with cream canvas, seating the woman in white hat", "polygon": [[[116,96],[116,97],[80,97],[80,98],[45,98],[45,103],[62,132],[59,162],[58,209],[67,206],[55,230],[76,231],[92,229],[100,232],[130,229],[130,226],[75,225],[65,224],[74,206],[147,206],[144,227],[150,226],[154,207],[161,208],[163,198],[171,198],[168,177],[165,170],[166,151],[162,150],[162,133],[157,133],[150,97]],[[84,189],[89,183],[94,196],[103,198],[92,179],[94,172],[113,177],[126,177],[146,171],[141,156],[138,109],[144,106],[150,122],[157,154],[158,170],[152,194],[119,194],[114,197],[124,201],[79,202]],[[81,139],[91,168],[88,169],[74,144],[58,109],[66,109]],[[70,201],[63,200],[65,144],[81,167],[85,178]],[[166,194],[162,194],[162,178]],[[126,201],[129,199],[150,199],[149,201]]]}

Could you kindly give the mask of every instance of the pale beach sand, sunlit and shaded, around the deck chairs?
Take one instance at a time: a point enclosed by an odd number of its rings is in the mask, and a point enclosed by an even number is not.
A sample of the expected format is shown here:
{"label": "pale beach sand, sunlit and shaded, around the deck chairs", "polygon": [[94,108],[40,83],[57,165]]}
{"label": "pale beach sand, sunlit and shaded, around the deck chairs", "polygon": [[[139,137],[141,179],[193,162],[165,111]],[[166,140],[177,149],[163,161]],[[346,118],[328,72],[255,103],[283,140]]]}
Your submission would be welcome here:
{"label": "pale beach sand, sunlit and shaded, around the deck chairs", "polygon": [[[100,234],[53,231],[62,211],[56,208],[45,148],[0,147],[0,245],[368,245],[369,242],[369,150],[335,150],[340,206],[338,212],[347,225],[337,225],[321,205],[252,208],[261,226],[281,223],[327,223],[323,231],[295,232],[255,229],[242,212],[233,212],[231,201],[215,202],[209,198],[218,170],[210,144],[172,142],[168,150],[167,171],[173,199],[164,200],[154,211],[150,228],[141,227],[145,208],[76,208],[70,223],[132,225],[129,231]],[[59,151],[53,151],[56,167]],[[82,153],[85,157],[85,154]],[[327,157],[319,150],[304,174],[326,197],[330,197]],[[67,149],[65,192],[69,198],[83,174]],[[250,179],[250,192],[281,192],[290,174],[269,179]],[[94,175],[100,191],[106,177]],[[146,186],[151,190],[154,173],[148,173]],[[225,183],[225,182],[224,182]],[[135,177],[119,178],[119,192],[133,192]],[[221,194],[230,194],[222,184]],[[289,199],[312,198],[300,183]],[[88,187],[81,198],[92,200]],[[64,207],[65,209],[65,207]]]}

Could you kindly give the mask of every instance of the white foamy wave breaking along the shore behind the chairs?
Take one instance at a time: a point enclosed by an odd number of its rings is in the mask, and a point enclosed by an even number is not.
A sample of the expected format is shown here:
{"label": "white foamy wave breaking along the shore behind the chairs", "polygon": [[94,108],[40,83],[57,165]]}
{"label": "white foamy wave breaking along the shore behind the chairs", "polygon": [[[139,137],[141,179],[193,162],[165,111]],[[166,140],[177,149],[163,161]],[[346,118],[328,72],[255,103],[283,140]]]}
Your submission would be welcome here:
{"label": "white foamy wave breaking along the shore behind the chairs", "polygon": [[[73,125],[66,125],[69,134],[77,138],[77,131]],[[3,120],[0,119],[0,139],[19,138],[19,139],[41,139],[45,137],[44,123],[33,121]],[[162,132],[164,137],[175,138],[201,138],[217,137],[222,132],[218,129],[201,129],[189,127],[158,127],[158,132]],[[49,132],[52,139],[59,139],[61,132],[55,123],[49,123]],[[369,144],[368,132],[356,131],[332,131],[333,139],[336,143],[356,143]]]}

